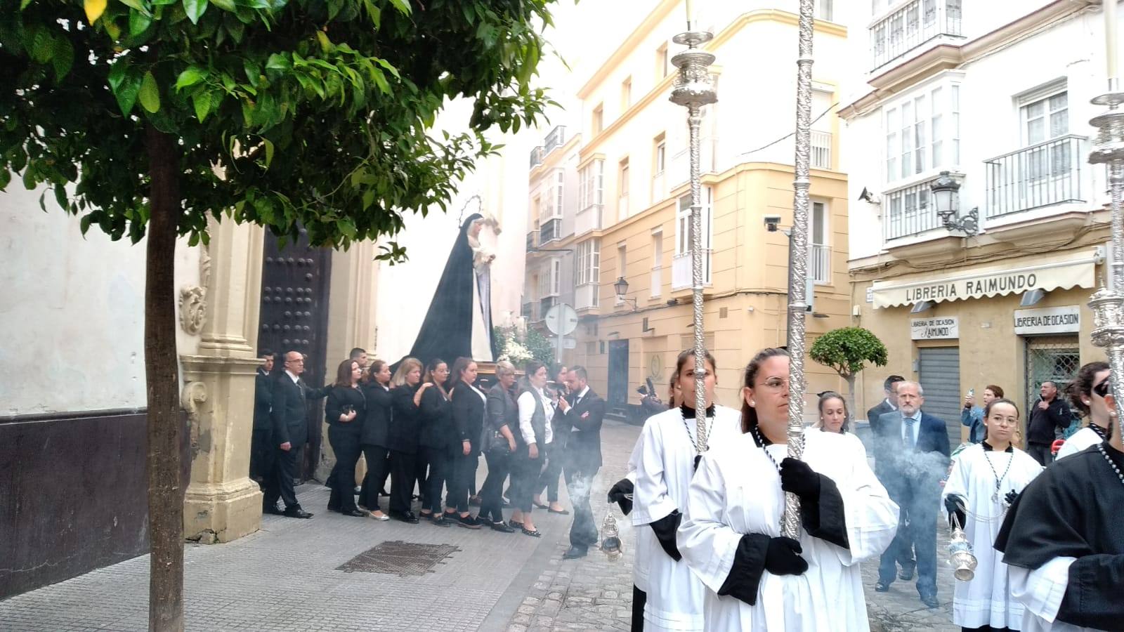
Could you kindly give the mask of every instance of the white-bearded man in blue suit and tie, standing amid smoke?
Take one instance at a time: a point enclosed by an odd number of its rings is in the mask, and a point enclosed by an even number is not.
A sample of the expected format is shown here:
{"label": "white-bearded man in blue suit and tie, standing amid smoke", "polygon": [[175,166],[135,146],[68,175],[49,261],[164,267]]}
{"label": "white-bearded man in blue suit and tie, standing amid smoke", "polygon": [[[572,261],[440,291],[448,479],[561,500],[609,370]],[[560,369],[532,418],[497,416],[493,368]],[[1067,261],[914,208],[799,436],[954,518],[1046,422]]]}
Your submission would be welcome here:
{"label": "white-bearded man in blue suit and tie, standing amid smoke", "polygon": [[941,480],[949,471],[951,445],[943,421],[923,413],[925,391],[921,385],[897,385],[898,409],[879,418],[874,454],[879,479],[901,508],[901,521],[890,548],[878,565],[874,590],[886,593],[897,575],[896,561],[913,543],[917,554],[917,594],[931,608],[936,601],[936,514]]}

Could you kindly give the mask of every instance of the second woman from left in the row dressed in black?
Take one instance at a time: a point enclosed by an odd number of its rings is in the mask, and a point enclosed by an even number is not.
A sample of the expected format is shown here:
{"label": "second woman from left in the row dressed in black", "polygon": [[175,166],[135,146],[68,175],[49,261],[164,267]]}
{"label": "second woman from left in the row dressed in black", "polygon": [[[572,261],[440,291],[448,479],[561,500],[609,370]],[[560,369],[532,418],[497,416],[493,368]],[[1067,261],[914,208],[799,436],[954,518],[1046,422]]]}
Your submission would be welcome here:
{"label": "second woman from left in the row dressed in black", "polygon": [[390,364],[375,360],[368,371],[363,382],[363,396],[366,398],[366,418],[360,444],[366,458],[366,476],[359,493],[359,504],[371,512],[371,517],[379,521],[390,520],[379,508],[379,489],[387,480],[389,472],[387,434],[390,432]]}

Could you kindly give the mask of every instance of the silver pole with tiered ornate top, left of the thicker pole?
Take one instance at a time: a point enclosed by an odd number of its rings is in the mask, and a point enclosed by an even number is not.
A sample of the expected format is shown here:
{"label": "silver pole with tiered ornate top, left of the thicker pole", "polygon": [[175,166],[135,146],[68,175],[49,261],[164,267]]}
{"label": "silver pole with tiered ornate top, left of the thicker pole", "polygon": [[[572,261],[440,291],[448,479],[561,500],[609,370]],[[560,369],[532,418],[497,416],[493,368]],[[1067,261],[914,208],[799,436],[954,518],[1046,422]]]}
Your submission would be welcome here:
{"label": "silver pole with tiered ornate top, left of the thicker pole", "polygon": [[691,298],[695,308],[695,432],[698,453],[707,451],[706,428],[706,349],[703,331],[703,196],[699,170],[701,154],[699,127],[703,124],[703,106],[718,100],[708,67],[714,55],[698,48],[714,38],[708,31],[694,30],[688,21],[688,30],[672,38],[676,44],[687,45],[687,49],[671,58],[679,69],[671,102],[687,108],[687,126],[690,130],[691,160]]}

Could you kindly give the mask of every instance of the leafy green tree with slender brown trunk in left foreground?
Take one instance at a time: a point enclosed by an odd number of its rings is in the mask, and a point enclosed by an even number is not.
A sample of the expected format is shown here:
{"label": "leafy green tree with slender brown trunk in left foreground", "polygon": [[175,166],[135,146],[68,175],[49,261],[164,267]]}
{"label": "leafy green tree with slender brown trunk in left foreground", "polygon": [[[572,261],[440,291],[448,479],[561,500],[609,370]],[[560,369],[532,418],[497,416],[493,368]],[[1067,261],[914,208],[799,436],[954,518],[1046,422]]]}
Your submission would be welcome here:
{"label": "leafy green tree with slender brown trunk in left foreground", "polygon": [[[214,218],[347,247],[444,209],[486,130],[550,105],[532,82],[552,2],[0,0],[0,190],[146,237],[151,630],[183,626],[176,238]],[[466,132],[432,136],[459,97]]]}

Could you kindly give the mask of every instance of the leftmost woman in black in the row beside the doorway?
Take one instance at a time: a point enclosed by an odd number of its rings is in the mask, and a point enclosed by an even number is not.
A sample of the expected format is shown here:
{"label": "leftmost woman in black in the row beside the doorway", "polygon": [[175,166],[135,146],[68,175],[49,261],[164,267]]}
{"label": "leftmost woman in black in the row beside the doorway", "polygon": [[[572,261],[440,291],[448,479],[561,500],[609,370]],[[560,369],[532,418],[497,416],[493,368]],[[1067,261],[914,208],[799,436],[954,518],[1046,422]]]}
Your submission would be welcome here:
{"label": "leftmost woman in black in the row beside the doorway", "polygon": [[362,452],[360,437],[366,412],[366,398],[360,390],[359,379],[363,369],[354,360],[344,360],[336,370],[336,383],[328,387],[324,416],[328,422],[328,443],[336,454],[336,464],[328,480],[332,496],[328,511],[345,516],[363,517],[365,512],[355,506],[355,463]]}

